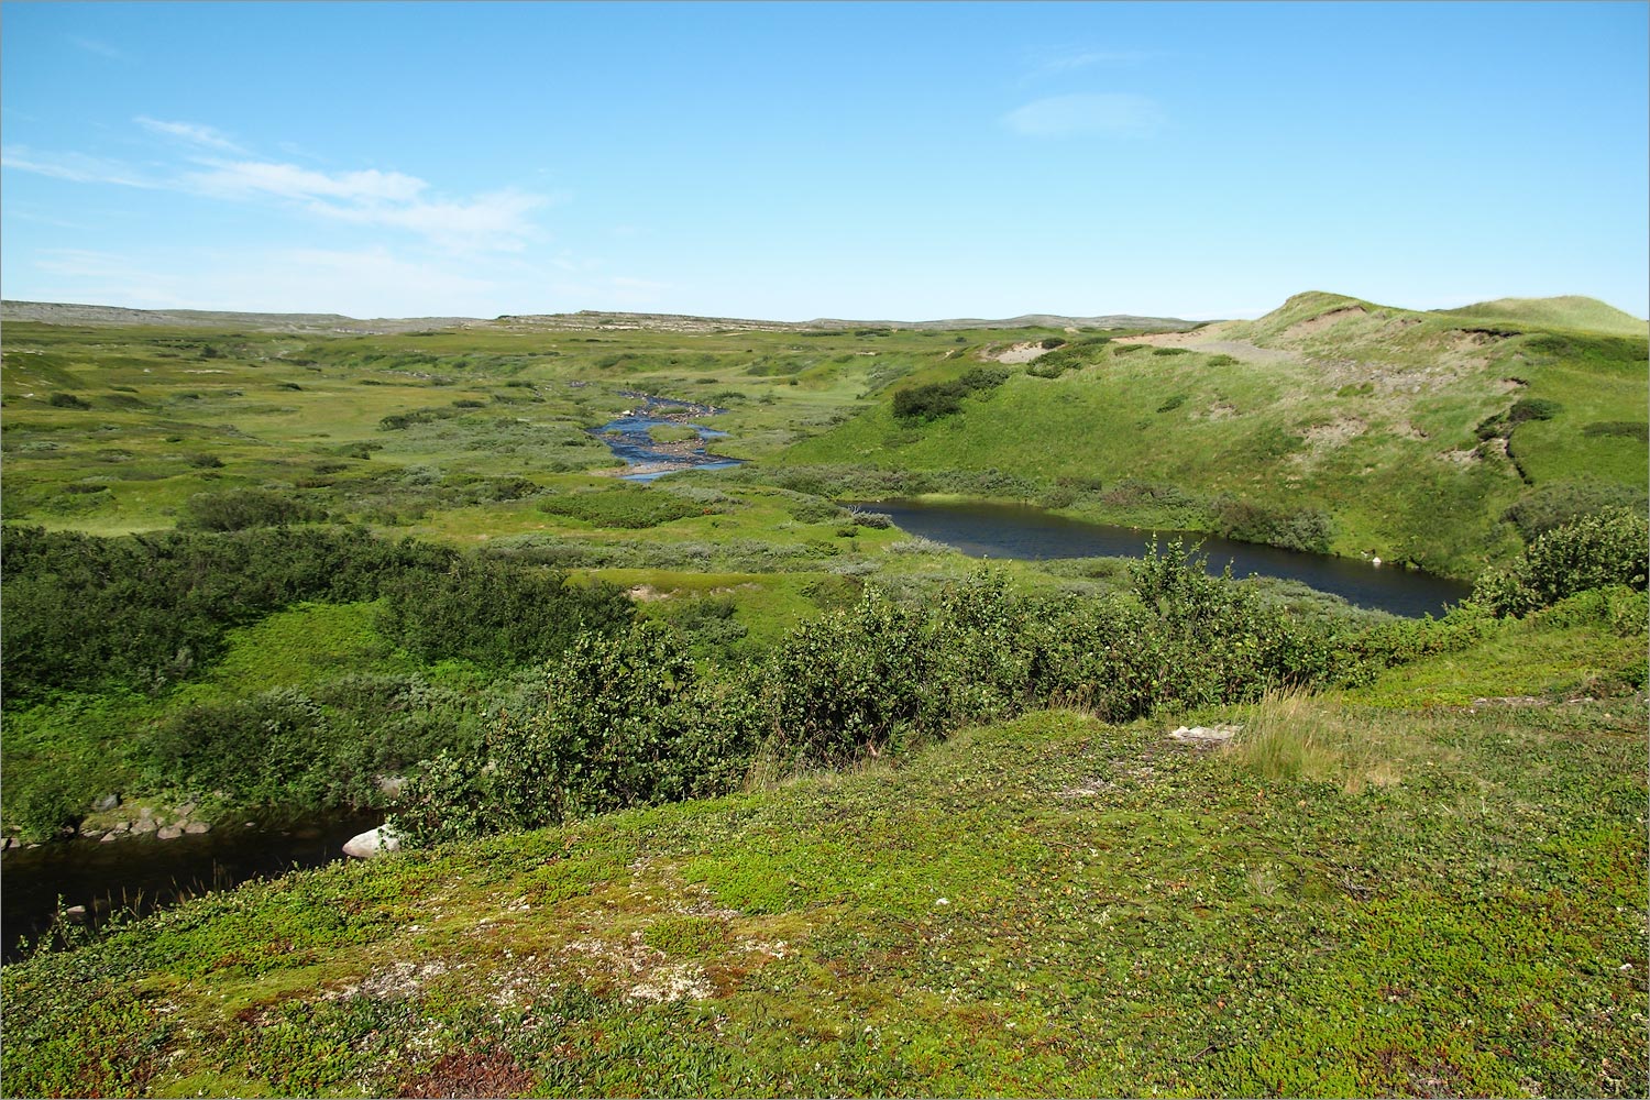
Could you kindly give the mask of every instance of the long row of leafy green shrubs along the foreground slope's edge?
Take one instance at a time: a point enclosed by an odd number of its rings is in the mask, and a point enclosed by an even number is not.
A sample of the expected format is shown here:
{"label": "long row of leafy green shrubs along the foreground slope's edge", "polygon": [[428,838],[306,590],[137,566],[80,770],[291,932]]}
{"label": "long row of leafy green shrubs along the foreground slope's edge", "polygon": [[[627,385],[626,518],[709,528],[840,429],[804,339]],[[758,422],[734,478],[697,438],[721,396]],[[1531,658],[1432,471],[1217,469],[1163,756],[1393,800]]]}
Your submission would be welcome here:
{"label": "long row of leafy green shrubs along the foreground slope's edge", "polygon": [[749,668],[698,668],[663,623],[586,635],[474,755],[426,764],[393,828],[412,841],[531,828],[734,788],[761,755],[842,765],[1048,704],[1112,721],[1360,675],[1345,640],[1211,577],[1180,544],[1127,597],[1033,602],[982,571],[927,604],[866,589]]}

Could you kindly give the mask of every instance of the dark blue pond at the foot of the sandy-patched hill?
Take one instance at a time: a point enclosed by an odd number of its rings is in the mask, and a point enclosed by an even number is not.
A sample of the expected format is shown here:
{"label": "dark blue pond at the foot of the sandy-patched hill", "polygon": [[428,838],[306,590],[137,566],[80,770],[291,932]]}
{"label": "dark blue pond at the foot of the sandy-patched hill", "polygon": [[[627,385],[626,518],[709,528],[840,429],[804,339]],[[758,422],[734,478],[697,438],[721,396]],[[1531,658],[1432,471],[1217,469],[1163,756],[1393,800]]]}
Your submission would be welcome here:
{"label": "dark blue pond at the foot of the sandy-patched hill", "polygon": [[[945,543],[972,557],[1138,557],[1152,541],[1150,531],[1114,528],[1066,519],[1028,505],[927,505],[921,501],[863,501],[863,508],[893,516],[911,534]],[[1472,585],[1445,581],[1414,569],[1374,566],[1350,557],[1300,554],[1234,543],[1191,531],[1158,531],[1158,546],[1180,538],[1188,548],[1203,543],[1208,571],[1219,574],[1231,564],[1234,577],[1252,572],[1262,577],[1300,581],[1320,592],[1333,592],[1358,607],[1373,607],[1419,618],[1442,615],[1459,604]]]}

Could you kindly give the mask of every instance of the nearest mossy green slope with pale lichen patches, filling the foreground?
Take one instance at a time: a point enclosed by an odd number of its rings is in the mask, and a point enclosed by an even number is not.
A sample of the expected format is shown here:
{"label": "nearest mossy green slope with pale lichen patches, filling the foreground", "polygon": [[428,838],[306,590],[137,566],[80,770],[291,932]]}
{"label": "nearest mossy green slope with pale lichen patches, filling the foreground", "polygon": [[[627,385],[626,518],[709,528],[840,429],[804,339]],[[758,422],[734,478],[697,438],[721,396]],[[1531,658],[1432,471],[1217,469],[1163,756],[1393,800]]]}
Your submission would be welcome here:
{"label": "nearest mossy green slope with pale lichen patches, filling the foreground", "polygon": [[1452,658],[1538,704],[1033,714],[195,902],[5,970],[8,1092],[1643,1095],[1643,703],[1563,703],[1643,638],[1574,618]]}

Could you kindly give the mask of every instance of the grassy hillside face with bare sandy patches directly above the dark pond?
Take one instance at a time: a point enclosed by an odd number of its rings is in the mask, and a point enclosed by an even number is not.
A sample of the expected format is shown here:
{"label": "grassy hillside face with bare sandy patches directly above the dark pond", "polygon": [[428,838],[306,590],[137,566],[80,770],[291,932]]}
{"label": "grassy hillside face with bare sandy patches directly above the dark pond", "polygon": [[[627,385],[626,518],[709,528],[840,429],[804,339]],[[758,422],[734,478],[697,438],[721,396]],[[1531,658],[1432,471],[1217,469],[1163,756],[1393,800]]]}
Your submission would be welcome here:
{"label": "grassy hillside face with bare sandy patches directly above the dark pond", "polygon": [[[901,422],[878,404],[782,460],[998,468],[1110,487],[1132,478],[1203,501],[1234,495],[1285,511],[1318,508],[1336,523],[1336,552],[1470,577],[1516,549],[1500,515],[1526,490],[1505,454],[1478,447],[1475,427],[1521,397],[1558,401],[1553,421],[1516,429],[1525,475],[1536,485],[1596,477],[1642,487],[1645,440],[1584,429],[1642,419],[1650,394],[1642,341],[1624,345],[1625,360],[1600,360],[1579,345],[1538,351],[1531,336],[1473,327],[1305,294],[1261,320],[1204,333],[1201,351],[1191,350],[1198,340],[1132,351],[1112,343],[1082,369],[1016,374],[929,424]],[[960,369],[939,364],[914,378]],[[1211,523],[1206,508],[1165,511],[1129,493],[1102,491],[1077,511]]]}

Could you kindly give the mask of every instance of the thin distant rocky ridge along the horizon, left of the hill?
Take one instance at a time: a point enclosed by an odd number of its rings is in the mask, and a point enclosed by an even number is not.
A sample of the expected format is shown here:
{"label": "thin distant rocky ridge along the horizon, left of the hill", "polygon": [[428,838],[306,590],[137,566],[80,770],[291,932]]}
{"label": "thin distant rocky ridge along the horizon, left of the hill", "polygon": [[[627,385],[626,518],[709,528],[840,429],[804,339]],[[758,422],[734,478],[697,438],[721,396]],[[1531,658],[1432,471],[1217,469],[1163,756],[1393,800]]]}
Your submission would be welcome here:
{"label": "thin distant rocky ridge along the horizon, left of the hill", "polygon": [[406,333],[431,328],[645,328],[663,331],[800,331],[812,328],[921,328],[949,331],[957,328],[1153,328],[1183,330],[1201,322],[1178,317],[1138,317],[1109,313],[1106,317],[1063,317],[1058,313],[1021,313],[1006,320],[960,317],[931,322],[815,318],[810,322],[772,322],[741,317],[691,317],[686,313],[620,313],[579,310],[576,313],[507,313],[480,317],[376,317],[363,320],[343,313],[256,313],[234,310],[137,310],[120,305],[86,305],[74,302],[0,302],[0,320],[43,322],[48,325],[178,325],[195,328],[252,328],[259,331],[335,331],[335,333]]}

